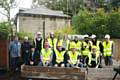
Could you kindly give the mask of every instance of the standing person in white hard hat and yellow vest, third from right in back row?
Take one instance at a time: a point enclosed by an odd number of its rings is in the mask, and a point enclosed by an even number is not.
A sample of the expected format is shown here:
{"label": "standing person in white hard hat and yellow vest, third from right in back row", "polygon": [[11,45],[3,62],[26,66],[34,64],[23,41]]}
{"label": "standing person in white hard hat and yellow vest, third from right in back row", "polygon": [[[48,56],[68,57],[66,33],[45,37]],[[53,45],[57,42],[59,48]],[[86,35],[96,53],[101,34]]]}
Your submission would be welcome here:
{"label": "standing person in white hard hat and yellow vest, third from right in back row", "polygon": [[84,35],[84,41],[82,42],[82,48],[81,48],[83,63],[86,57],[88,57],[88,53],[91,51],[91,46],[92,46],[92,42],[89,40],[89,36]]}

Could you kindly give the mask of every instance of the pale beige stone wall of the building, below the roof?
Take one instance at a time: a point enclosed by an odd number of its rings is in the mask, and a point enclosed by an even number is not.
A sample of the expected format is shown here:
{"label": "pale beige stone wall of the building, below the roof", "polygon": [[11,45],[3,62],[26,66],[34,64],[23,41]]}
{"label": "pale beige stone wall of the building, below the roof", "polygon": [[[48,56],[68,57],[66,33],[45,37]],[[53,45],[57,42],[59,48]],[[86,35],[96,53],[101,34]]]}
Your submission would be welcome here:
{"label": "pale beige stone wall of the building, below the roof", "polygon": [[31,32],[35,34],[37,31],[43,32],[43,22],[45,21],[45,32],[46,34],[61,29],[65,26],[70,26],[70,19],[60,17],[49,17],[43,16],[32,17],[32,16],[19,16],[19,31]]}

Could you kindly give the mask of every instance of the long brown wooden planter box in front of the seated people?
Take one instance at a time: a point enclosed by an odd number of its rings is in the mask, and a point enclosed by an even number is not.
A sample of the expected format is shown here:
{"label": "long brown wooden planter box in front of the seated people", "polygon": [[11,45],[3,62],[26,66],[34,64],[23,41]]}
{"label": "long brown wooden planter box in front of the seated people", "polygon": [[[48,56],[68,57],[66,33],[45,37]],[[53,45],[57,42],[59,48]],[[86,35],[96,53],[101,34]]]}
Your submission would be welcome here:
{"label": "long brown wooden planter box in front of the seated people", "polygon": [[21,76],[40,80],[85,80],[85,72],[80,68],[37,67],[23,65]]}

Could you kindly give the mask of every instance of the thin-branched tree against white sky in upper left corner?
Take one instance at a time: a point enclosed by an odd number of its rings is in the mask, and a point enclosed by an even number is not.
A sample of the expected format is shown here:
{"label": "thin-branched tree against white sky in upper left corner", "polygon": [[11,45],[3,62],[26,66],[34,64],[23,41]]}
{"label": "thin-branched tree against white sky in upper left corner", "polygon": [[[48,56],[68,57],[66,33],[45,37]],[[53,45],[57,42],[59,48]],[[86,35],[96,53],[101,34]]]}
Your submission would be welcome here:
{"label": "thin-branched tree against white sky in upper left corner", "polygon": [[1,14],[7,17],[8,21],[11,21],[11,9],[16,6],[15,0],[0,0],[0,8],[5,12],[0,11]]}

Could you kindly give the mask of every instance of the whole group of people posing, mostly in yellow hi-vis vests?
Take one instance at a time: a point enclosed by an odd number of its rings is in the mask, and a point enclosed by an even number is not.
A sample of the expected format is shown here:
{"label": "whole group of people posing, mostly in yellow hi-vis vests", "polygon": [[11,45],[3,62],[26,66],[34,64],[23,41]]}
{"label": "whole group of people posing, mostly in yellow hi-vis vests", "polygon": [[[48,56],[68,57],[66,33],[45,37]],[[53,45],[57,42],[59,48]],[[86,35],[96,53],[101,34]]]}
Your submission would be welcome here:
{"label": "whole group of people posing, mostly in yellow hi-vis vests", "polygon": [[20,43],[18,37],[10,43],[11,65],[17,69],[17,63],[21,57],[23,63],[31,66],[54,67],[102,67],[102,59],[105,65],[112,65],[113,41],[106,34],[100,41],[96,35],[84,35],[80,40],[78,36],[68,38],[66,34],[55,37],[51,32],[49,37],[42,38],[41,32],[37,32],[33,43],[28,37]]}

